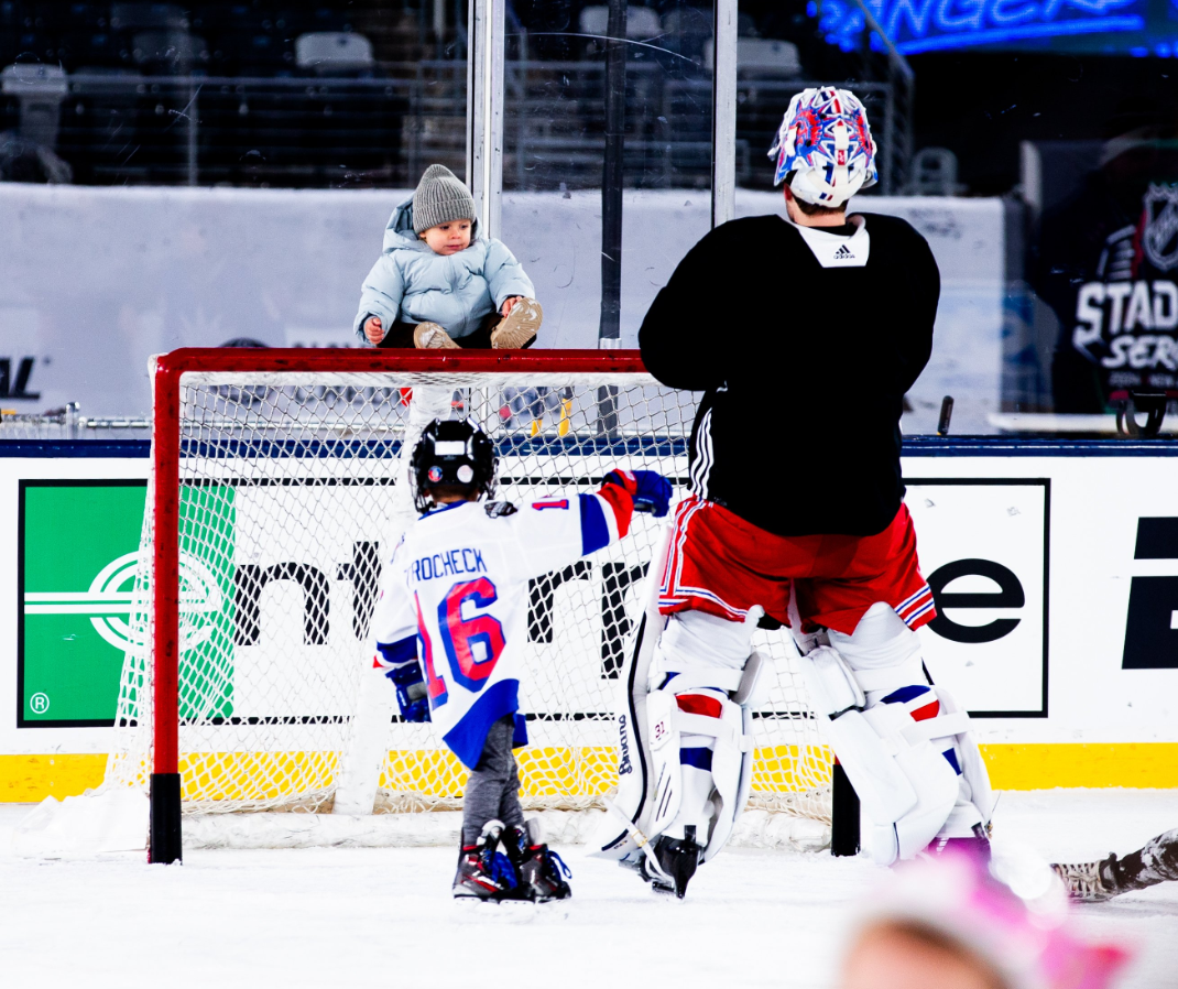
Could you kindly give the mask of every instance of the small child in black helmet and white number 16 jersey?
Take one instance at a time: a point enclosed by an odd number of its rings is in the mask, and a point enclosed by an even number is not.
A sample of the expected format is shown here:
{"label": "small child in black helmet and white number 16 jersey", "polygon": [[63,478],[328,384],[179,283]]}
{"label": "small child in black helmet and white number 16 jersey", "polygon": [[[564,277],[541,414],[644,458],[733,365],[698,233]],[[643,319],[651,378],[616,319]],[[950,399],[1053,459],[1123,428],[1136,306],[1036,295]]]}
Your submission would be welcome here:
{"label": "small child in black helmet and white number 16 jersey", "polygon": [[[593,494],[516,509],[490,500],[496,467],[478,427],[426,426],[410,464],[422,517],[385,572],[373,615],[377,662],[402,714],[432,720],[470,770],[454,895],[558,899],[569,886],[538,822],[524,822],[511,753],[527,743],[518,710],[528,581],[622,539],[633,512],[664,516],[671,488],[651,470],[615,469]],[[501,844],[514,875],[498,864]]]}

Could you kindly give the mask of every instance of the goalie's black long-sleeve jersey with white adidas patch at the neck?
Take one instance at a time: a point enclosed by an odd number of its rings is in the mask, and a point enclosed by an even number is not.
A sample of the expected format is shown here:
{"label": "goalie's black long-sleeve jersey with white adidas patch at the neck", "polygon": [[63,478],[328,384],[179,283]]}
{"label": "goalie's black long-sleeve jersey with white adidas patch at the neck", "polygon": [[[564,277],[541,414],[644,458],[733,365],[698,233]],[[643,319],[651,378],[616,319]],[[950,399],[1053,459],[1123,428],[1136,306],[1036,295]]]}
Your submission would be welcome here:
{"label": "goalie's black long-sleeve jersey with white adidas patch at the neck", "polygon": [[885,529],[939,297],[928,243],[895,217],[803,229],[762,216],[708,233],[638,331],[650,374],[704,393],[694,493],[777,535]]}

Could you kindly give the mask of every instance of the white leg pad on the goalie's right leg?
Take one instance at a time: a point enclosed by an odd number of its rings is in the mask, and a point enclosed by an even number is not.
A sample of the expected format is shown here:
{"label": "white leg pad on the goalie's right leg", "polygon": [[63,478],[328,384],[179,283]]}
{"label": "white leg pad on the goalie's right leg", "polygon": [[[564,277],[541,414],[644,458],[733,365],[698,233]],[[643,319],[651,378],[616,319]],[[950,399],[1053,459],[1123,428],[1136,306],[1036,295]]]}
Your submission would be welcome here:
{"label": "white leg pad on the goalie's right leg", "polygon": [[966,712],[924,675],[919,639],[887,605],[853,635],[830,632],[803,675],[815,713],[873,824],[878,862],[912,858],[938,837],[967,837],[993,810]]}

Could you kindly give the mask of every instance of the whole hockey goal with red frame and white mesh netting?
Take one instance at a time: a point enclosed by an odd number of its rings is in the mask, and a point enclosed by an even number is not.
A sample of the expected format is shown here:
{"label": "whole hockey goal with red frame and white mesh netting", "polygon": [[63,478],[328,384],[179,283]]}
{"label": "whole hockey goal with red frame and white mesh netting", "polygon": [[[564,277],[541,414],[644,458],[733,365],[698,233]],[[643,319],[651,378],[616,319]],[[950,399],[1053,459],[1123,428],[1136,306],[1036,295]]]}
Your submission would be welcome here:
{"label": "whole hockey goal with red frame and white mesh netting", "polygon": [[[659,385],[630,351],[157,358],[106,778],[151,787],[153,858],[170,861],[178,807],[332,809],[372,664],[382,565],[416,517],[403,449],[424,422],[441,414],[482,426],[498,449],[501,499],[588,489],[614,464],[659,470],[682,497],[697,397]],[[617,674],[663,525],[637,516],[620,545],[528,588],[531,741],[517,752],[527,806],[600,806],[616,784]],[[774,662],[755,718],[753,804],[828,818],[829,752],[792,650],[781,632],[757,635]],[[430,725],[386,714],[382,731],[375,812],[461,806],[465,773]]]}

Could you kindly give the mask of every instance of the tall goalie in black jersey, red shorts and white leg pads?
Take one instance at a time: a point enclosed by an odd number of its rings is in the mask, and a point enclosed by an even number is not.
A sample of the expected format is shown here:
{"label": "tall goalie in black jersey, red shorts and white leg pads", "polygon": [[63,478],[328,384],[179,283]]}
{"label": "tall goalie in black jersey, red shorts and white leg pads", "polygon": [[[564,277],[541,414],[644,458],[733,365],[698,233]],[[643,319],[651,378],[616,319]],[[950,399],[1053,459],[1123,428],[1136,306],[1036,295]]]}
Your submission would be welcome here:
{"label": "tall goalie in black jersey, red shorts and white leg pads", "polygon": [[[624,681],[618,731],[643,753],[615,802],[631,826],[603,831],[596,853],[680,896],[747,803],[759,621],[792,625],[808,652],[812,705],[878,861],[985,842],[993,805],[968,717],[928,683],[915,633],[935,612],[902,505],[899,421],[932,351],[937,262],[904,220],[847,217],[875,182],[852,93],[794,97],[770,154],[786,216],[708,233],[638,332],[650,374],[703,397],[691,494]],[[715,284],[739,345],[699,318],[700,286]]]}

